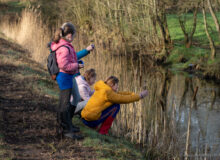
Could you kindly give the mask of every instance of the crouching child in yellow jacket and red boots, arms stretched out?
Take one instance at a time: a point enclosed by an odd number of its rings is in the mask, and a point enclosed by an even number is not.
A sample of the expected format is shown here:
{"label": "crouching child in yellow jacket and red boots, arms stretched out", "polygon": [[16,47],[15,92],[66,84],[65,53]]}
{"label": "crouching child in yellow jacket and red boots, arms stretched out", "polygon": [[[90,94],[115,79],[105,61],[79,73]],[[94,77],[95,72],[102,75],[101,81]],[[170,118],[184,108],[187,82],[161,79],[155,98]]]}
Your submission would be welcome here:
{"label": "crouching child in yellow jacket and red boots, arms stretched out", "polygon": [[95,92],[81,112],[83,123],[96,128],[101,124],[100,134],[107,134],[112,122],[120,110],[119,104],[138,101],[147,96],[147,90],[140,94],[118,92],[118,78],[110,76],[105,82],[94,85]]}

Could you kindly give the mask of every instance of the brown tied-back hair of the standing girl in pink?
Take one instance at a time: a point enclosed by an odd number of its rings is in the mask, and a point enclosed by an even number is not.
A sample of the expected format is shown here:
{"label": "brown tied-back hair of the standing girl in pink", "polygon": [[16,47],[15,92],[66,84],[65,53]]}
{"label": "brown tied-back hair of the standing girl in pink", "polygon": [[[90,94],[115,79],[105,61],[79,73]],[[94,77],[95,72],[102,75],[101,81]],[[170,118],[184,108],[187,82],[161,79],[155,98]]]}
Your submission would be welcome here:
{"label": "brown tied-back hair of the standing girl in pink", "polygon": [[66,22],[61,26],[61,28],[59,28],[55,32],[55,35],[53,37],[53,42],[58,43],[62,37],[65,37],[69,33],[74,35],[76,33],[76,29],[72,23]]}

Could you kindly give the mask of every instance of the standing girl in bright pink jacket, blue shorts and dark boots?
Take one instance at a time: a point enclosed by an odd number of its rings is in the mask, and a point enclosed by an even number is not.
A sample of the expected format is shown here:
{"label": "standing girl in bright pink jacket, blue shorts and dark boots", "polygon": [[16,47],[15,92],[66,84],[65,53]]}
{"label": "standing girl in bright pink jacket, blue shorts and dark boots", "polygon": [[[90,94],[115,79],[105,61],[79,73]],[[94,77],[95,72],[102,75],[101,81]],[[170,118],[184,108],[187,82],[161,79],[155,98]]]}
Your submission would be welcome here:
{"label": "standing girl in bright pink jacket, blue shorts and dark boots", "polygon": [[[83,64],[78,64],[77,55],[72,46],[75,35],[75,27],[72,23],[64,23],[62,27],[55,33],[51,50],[56,51],[57,64],[60,69],[56,76],[56,81],[60,88],[59,109],[58,109],[58,123],[62,129],[62,134],[66,137],[74,139],[82,138],[74,132],[79,132],[79,128],[72,125],[70,116],[71,104],[70,95],[72,92],[73,78],[79,69],[83,68]],[[93,50],[90,45],[85,49],[87,52]]]}

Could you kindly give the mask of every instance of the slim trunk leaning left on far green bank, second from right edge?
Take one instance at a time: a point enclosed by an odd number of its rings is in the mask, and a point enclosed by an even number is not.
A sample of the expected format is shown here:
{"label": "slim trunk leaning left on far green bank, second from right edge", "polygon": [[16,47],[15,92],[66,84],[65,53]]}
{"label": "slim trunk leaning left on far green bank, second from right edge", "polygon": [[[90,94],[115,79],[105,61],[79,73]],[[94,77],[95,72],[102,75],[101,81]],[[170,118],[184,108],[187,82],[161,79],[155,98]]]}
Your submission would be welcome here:
{"label": "slim trunk leaning left on far green bank, second from right edge", "polygon": [[211,49],[211,57],[212,59],[215,58],[216,56],[216,51],[215,51],[215,44],[212,40],[212,37],[210,36],[209,32],[208,32],[208,27],[207,27],[207,21],[206,21],[206,13],[205,13],[205,6],[204,6],[204,0],[203,0],[203,7],[202,7],[202,14],[203,14],[203,20],[204,20],[204,27],[205,27],[205,33],[206,33],[206,36],[208,37],[209,39],[209,46],[210,46],[210,49]]}

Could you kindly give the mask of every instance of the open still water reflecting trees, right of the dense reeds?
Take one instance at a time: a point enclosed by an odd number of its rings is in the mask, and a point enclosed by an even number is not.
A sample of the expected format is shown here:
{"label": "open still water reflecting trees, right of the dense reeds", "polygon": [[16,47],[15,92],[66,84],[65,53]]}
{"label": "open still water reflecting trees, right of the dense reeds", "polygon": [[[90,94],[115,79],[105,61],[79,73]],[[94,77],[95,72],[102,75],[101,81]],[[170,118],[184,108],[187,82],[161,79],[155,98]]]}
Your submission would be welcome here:
{"label": "open still water reflecting trees, right of the dense reeds", "polygon": [[173,75],[167,92],[166,111],[182,144],[179,152],[186,151],[188,141],[189,157],[220,159],[219,85],[196,77]]}

